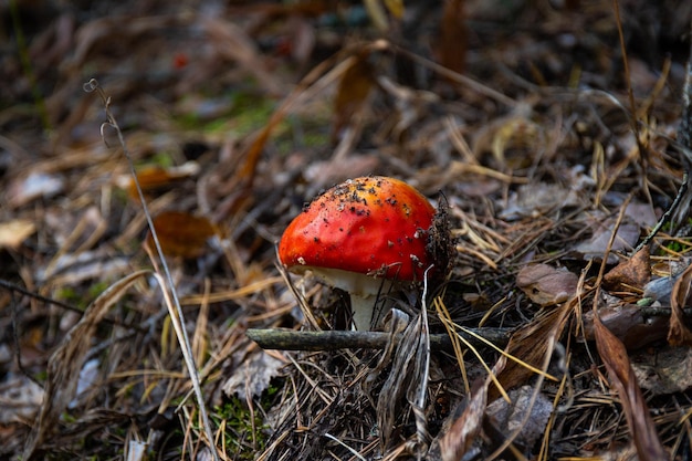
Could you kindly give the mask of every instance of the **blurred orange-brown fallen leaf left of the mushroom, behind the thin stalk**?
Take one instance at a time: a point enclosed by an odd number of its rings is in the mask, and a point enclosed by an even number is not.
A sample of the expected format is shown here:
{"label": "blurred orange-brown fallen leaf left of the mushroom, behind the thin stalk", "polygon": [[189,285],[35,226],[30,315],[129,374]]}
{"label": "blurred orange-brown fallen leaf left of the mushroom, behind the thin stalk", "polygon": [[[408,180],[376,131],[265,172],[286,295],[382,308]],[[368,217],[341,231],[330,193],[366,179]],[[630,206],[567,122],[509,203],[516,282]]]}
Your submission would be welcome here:
{"label": "blurred orange-brown fallen leaf left of the mushroom, behind the thin stalk", "polygon": [[[185,259],[202,255],[207,240],[214,234],[214,227],[207,218],[184,211],[165,211],[156,216],[154,229],[166,255]],[[154,248],[151,233],[147,235],[147,245]]]}

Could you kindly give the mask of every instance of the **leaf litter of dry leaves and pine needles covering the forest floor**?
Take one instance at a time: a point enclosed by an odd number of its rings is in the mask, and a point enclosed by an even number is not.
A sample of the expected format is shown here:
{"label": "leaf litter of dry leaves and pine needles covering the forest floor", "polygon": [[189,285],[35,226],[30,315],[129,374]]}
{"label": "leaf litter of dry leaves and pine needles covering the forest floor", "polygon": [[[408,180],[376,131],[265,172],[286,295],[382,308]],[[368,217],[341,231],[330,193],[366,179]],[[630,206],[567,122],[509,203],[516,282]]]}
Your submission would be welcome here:
{"label": "leaf litter of dry leaves and pine needles covering the forest floor", "polygon": [[[30,22],[17,3],[3,39],[2,457],[689,455],[689,195],[635,253],[691,163],[689,31],[671,21],[689,7],[97,6]],[[92,77],[185,325],[138,272],[160,261],[80,91]],[[382,349],[262,350],[249,328],[345,328],[347,297],[281,271],[275,243],[319,190],[367,174],[447,210],[447,279],[395,300],[409,323]],[[506,347],[462,338],[483,328]]]}

